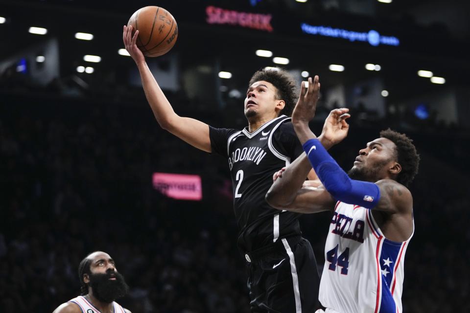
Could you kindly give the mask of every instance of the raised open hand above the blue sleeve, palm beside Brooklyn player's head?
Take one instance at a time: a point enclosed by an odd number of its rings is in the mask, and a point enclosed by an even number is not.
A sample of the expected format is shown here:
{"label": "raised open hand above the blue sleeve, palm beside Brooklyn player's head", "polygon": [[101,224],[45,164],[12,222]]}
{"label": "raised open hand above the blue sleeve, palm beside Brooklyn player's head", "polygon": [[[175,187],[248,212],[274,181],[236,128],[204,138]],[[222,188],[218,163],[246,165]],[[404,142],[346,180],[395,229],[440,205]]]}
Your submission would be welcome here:
{"label": "raised open hand above the blue sleeve, palm beside Brooklyn player's head", "polygon": [[305,86],[305,82],[302,82],[299,100],[292,112],[292,123],[305,124],[312,120],[315,116],[319,96],[319,77],[315,75],[313,81],[311,77],[308,77],[308,88]]}

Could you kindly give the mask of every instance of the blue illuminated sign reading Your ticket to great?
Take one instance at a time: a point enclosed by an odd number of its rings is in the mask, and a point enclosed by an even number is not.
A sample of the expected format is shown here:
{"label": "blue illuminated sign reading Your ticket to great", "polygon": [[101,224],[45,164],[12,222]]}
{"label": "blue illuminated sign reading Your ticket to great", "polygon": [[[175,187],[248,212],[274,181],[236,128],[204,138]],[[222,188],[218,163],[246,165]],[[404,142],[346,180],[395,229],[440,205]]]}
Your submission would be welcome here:
{"label": "blue illuminated sign reading Your ticket to great", "polygon": [[329,26],[313,26],[307,23],[302,23],[302,31],[310,35],[319,35],[334,38],[348,39],[351,42],[362,41],[368,42],[370,45],[400,45],[400,40],[397,37],[382,36],[376,30],[369,32],[356,32],[340,28],[332,28]]}

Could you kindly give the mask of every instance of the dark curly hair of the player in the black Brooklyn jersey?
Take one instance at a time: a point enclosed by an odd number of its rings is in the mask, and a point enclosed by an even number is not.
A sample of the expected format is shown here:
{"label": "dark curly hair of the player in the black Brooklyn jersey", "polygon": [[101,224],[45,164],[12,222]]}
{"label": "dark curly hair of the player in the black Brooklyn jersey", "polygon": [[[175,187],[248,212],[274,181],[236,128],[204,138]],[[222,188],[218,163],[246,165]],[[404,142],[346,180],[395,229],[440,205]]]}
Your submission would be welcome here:
{"label": "dark curly hair of the player in the black Brooklyn jersey", "polygon": [[261,69],[255,72],[248,83],[248,87],[259,81],[273,84],[276,89],[276,98],[284,100],[285,106],[281,113],[287,116],[292,114],[298,97],[297,84],[294,78],[283,69]]}

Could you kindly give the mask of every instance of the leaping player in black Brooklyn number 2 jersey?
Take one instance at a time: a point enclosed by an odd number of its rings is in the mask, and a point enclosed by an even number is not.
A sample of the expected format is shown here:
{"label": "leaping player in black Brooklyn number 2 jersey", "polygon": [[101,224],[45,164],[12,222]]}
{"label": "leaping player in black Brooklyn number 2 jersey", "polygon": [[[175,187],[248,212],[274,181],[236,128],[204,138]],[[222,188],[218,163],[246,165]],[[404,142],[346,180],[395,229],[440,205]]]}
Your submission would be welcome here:
{"label": "leaping player in black Brooklyn number 2 jersey", "polygon": [[[319,277],[310,243],[301,236],[299,215],[280,212],[264,199],[273,173],[303,152],[288,117],[297,98],[294,81],[284,71],[256,72],[244,102],[248,127],[241,131],[214,128],[173,111],[136,46],[138,31],[131,34],[131,26],[124,26],[124,45],[139,68],[160,126],[190,145],[228,160],[239,229],[237,246],[247,263],[251,311],[314,312]],[[314,172],[311,176],[316,177]]]}

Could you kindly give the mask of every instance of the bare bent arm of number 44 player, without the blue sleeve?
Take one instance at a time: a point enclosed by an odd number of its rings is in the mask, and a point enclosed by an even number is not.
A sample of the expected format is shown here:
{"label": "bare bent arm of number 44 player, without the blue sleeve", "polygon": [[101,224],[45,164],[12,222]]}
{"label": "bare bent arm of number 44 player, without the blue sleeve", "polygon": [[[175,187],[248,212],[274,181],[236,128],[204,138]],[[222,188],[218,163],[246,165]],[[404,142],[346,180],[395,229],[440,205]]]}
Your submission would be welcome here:
{"label": "bare bent arm of number 44 player, without the blue sleeve", "polygon": [[269,205],[297,213],[332,210],[334,199],[322,186],[305,186],[305,176],[312,169],[305,153],[274,174],[274,183],[266,194]]}

